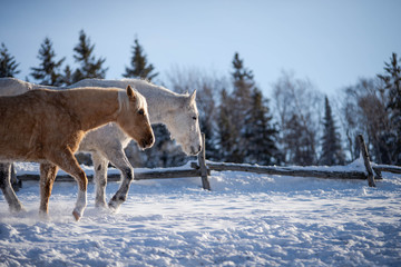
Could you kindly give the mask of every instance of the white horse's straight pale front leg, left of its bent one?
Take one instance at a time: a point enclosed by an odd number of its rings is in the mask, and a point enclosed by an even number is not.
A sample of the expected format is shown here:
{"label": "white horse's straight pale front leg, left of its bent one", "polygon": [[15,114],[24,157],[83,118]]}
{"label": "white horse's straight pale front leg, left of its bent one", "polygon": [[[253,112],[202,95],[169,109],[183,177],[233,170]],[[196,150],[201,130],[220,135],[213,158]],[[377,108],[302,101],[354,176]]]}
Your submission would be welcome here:
{"label": "white horse's straight pale front leg, left of its bent one", "polygon": [[96,198],[95,207],[106,208],[106,185],[108,160],[99,152],[92,152],[95,168]]}

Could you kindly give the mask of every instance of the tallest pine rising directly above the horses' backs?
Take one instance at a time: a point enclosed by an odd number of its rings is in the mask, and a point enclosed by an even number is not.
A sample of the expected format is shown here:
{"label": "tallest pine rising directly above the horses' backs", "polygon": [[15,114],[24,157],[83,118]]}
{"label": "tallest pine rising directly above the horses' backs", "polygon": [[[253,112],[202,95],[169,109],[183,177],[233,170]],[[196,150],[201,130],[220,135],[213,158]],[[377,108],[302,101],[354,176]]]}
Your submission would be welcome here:
{"label": "tallest pine rising directly above the horses' backs", "polygon": [[80,81],[86,78],[99,78],[106,77],[107,68],[104,69],[102,65],[106,59],[96,57],[92,55],[95,44],[90,44],[90,39],[87,38],[84,30],[79,32],[79,43],[74,48],[76,55],[74,58],[76,62],[80,63],[80,68],[76,69],[72,73],[72,82]]}

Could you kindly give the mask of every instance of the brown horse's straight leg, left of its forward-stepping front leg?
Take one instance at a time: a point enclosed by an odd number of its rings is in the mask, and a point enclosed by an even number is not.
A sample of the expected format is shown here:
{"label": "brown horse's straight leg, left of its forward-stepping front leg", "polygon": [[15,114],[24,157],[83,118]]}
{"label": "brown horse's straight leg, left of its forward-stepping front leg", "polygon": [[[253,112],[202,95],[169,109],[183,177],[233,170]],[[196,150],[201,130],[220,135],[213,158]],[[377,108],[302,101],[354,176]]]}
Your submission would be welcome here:
{"label": "brown horse's straight leg, left of its forward-stepping front leg", "polygon": [[56,180],[58,167],[53,164],[40,165],[40,206],[39,215],[46,217],[49,214],[49,198],[52,185]]}

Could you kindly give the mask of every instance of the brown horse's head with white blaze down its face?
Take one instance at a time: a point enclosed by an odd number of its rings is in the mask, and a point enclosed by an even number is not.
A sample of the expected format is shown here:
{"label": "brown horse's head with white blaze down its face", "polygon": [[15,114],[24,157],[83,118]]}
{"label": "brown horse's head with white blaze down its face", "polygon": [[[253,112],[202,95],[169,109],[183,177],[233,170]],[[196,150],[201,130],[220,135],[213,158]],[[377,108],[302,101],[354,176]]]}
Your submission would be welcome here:
{"label": "brown horse's head with white blaze down its face", "polygon": [[130,138],[136,140],[141,149],[151,147],[155,142],[155,136],[150,126],[145,97],[133,90],[130,86],[127,86],[126,91],[118,92],[118,126]]}

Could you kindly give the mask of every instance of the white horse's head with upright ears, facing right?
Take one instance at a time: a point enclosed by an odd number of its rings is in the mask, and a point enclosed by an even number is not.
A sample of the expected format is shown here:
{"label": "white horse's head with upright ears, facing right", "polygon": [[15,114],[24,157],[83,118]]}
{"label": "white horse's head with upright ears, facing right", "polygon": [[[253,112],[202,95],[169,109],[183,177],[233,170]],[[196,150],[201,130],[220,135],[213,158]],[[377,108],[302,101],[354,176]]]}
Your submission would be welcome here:
{"label": "white horse's head with upright ears, facing right", "polygon": [[195,156],[202,149],[199,112],[196,107],[196,90],[182,99],[180,107],[168,116],[172,138],[182,146],[186,155]]}

